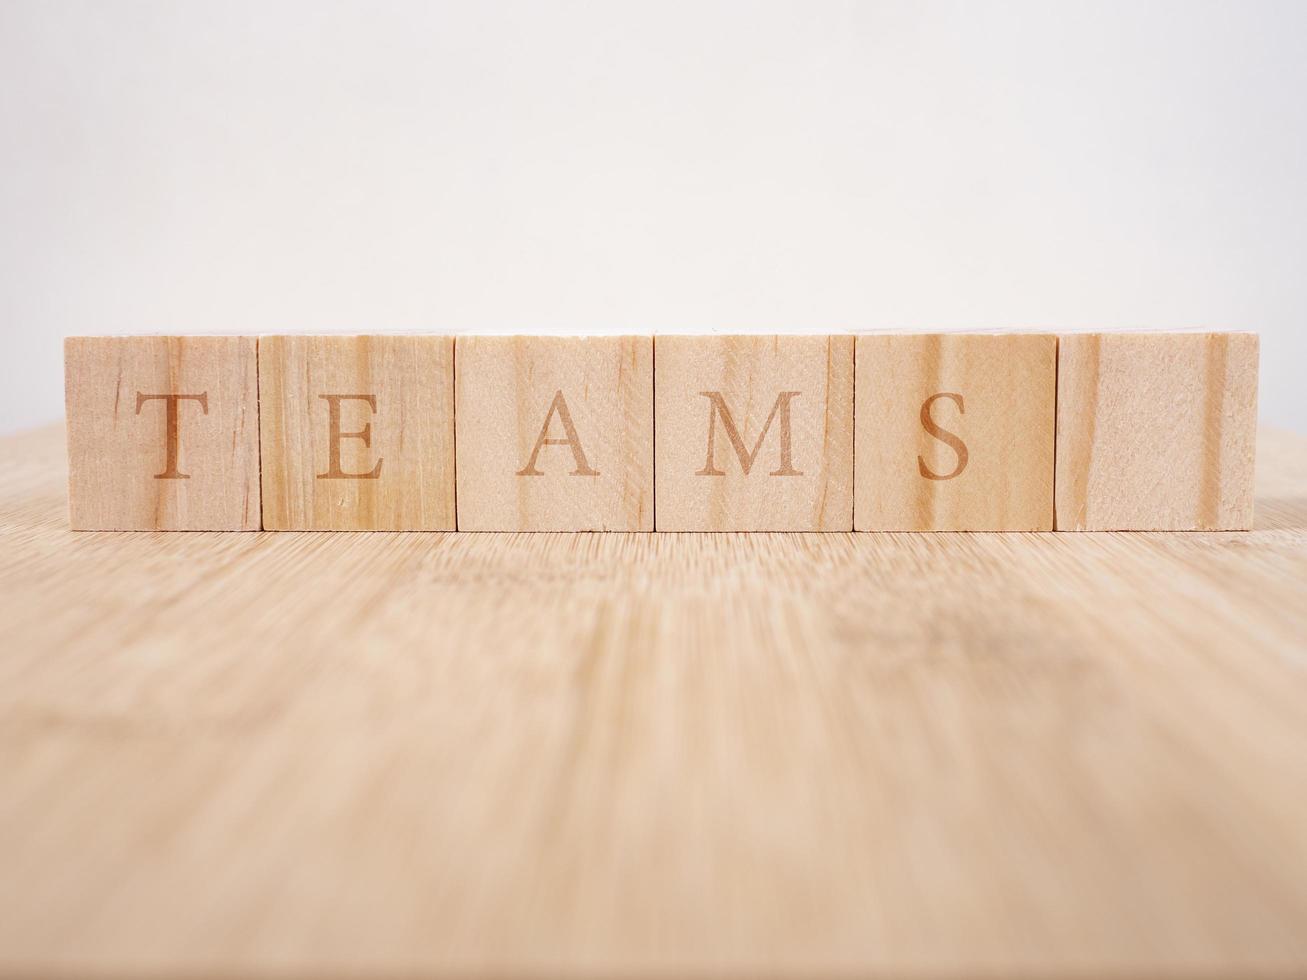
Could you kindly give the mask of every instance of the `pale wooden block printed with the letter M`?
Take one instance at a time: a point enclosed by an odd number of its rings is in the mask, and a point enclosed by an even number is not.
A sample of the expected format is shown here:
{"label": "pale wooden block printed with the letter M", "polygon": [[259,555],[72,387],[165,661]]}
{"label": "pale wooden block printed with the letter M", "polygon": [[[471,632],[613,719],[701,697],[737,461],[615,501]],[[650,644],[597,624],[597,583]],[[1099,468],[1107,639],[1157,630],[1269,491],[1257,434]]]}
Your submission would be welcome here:
{"label": "pale wooden block printed with the letter M", "polygon": [[656,337],[659,531],[851,531],[853,338]]}

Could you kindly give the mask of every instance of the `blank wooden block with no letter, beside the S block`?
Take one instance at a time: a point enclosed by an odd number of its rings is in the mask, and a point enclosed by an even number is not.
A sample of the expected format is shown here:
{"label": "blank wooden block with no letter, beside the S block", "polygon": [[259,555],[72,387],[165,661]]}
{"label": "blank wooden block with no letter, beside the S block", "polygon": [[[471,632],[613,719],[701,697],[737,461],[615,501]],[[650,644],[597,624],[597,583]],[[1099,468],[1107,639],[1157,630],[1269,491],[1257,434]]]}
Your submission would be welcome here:
{"label": "blank wooden block with no letter, beside the S block", "polygon": [[1061,337],[1059,531],[1252,527],[1253,333]]}

